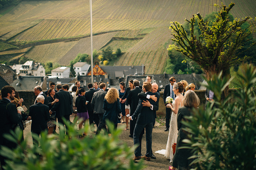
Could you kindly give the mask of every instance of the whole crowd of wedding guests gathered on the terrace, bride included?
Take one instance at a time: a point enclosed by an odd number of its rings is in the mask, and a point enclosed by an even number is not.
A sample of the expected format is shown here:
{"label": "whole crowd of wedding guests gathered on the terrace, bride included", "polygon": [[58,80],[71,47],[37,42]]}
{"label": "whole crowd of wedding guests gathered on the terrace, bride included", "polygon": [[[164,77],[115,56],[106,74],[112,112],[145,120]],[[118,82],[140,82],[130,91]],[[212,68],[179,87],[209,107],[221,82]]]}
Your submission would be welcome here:
{"label": "whole crowd of wedding guests gathered on the terrace, bride included", "polygon": [[[22,106],[23,99],[19,97],[17,91],[12,86],[5,86],[1,93],[3,99],[0,101],[0,110],[3,112],[3,119],[0,124],[0,144],[9,148],[14,148],[15,144],[4,139],[3,133],[14,130],[16,126],[24,130],[24,121],[32,120],[31,132],[34,134],[33,144],[38,144],[38,137],[42,131],[49,134],[56,133],[56,121],[64,125],[70,122],[70,115],[78,117],[79,129],[82,125],[90,125],[90,130],[99,134],[103,129],[111,136],[111,129],[115,130],[118,123],[126,123],[125,129],[130,129],[129,137],[133,138],[134,145],[138,147],[134,151],[134,161],[139,159],[156,159],[153,155],[152,129],[156,119],[156,111],[159,108],[160,93],[156,83],[151,84],[151,76],[146,77],[147,81],[143,86],[136,79],[128,82],[129,87],[125,87],[124,82],[120,82],[120,89],[106,88],[104,82],[88,83],[88,91],[84,90],[80,81],[76,81],[70,93],[68,85],[61,85],[51,82],[49,90],[43,92],[41,86],[34,88],[36,96],[34,105],[29,107],[29,115],[17,111],[18,106]],[[182,131],[181,121],[184,116],[192,114],[192,108],[198,107],[200,101],[193,92],[194,84],[188,84],[186,80],[176,82],[175,77],[169,79],[170,84],[165,86],[163,100],[166,105],[166,129],[169,130],[169,137],[166,144],[164,155],[173,162],[173,167],[169,169],[181,169],[188,167],[190,150],[180,149],[173,154],[172,145],[177,143],[177,147],[183,145],[182,139],[186,138],[187,133]],[[56,90],[55,90],[56,88]],[[207,91],[207,101],[212,101],[212,91]],[[167,103],[166,98],[170,96],[174,101]],[[106,121],[113,123],[113,128],[106,127]],[[130,127],[128,122],[130,121]],[[73,122],[76,123],[76,122]],[[141,155],[142,137],[146,136],[146,154]],[[84,132],[79,137],[86,136]],[[184,157],[184,155],[186,155]],[[181,158],[182,157],[182,158]],[[5,158],[0,156],[1,164],[5,164]],[[185,168],[186,169],[186,168]]]}

